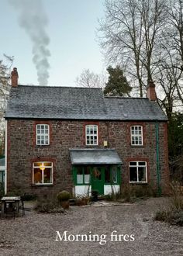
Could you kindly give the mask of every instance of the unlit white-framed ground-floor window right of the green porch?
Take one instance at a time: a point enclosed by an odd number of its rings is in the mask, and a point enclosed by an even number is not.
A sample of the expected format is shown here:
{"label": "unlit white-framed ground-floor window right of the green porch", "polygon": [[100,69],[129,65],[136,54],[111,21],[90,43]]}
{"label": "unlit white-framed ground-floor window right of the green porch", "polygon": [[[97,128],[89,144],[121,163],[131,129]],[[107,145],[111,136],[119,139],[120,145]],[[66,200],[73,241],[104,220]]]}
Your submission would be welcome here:
{"label": "unlit white-framed ground-floor window right of the green porch", "polygon": [[147,162],[129,162],[129,183],[147,183]]}

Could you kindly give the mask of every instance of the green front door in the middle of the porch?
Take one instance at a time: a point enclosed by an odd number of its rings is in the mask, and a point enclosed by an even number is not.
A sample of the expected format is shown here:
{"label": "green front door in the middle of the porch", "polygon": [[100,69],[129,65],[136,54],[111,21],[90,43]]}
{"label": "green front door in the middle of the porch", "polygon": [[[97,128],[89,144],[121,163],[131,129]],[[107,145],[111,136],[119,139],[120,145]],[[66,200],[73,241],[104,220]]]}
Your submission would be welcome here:
{"label": "green front door in the middle of the porch", "polygon": [[98,195],[104,194],[104,168],[91,168],[91,190],[97,191]]}

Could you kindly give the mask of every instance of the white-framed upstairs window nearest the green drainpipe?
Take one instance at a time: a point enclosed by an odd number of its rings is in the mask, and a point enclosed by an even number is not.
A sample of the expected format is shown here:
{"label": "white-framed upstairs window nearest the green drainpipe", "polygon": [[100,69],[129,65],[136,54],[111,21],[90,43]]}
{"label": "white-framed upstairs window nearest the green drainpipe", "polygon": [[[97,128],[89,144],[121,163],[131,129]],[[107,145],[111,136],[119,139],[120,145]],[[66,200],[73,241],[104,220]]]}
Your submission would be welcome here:
{"label": "white-framed upstairs window nearest the green drainpipe", "polygon": [[131,126],[131,145],[143,146],[143,126]]}

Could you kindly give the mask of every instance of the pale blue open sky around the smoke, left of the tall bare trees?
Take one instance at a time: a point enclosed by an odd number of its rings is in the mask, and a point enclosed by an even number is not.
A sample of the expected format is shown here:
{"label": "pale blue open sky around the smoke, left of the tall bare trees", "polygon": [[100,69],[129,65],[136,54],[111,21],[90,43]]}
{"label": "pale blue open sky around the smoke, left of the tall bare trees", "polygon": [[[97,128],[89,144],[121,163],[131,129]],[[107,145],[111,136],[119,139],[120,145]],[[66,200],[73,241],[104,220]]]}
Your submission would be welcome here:
{"label": "pale blue open sky around the smoke, left of the tall bare trees", "polygon": [[[19,25],[21,6],[16,9],[9,2],[16,2],[18,5],[19,0],[1,0],[0,59],[3,54],[14,56],[13,67],[18,68],[19,83],[38,85],[36,67],[33,64],[33,42],[25,29]],[[47,57],[50,64],[48,85],[75,86],[75,78],[86,68],[95,73],[105,72],[106,67],[96,38],[98,19],[104,16],[103,2],[42,1],[43,16],[48,20],[43,29],[50,38],[50,43],[47,44],[47,50],[50,51],[50,57]],[[33,7],[28,6],[27,9],[33,10]],[[29,13],[25,14],[27,20]]]}

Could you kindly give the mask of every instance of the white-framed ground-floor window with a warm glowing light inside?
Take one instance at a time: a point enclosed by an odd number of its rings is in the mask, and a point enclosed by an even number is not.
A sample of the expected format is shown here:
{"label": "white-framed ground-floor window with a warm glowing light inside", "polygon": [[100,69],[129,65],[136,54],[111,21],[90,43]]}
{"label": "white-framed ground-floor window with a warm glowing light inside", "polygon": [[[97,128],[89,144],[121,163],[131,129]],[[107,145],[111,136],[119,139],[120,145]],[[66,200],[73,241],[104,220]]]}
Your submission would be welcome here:
{"label": "white-framed ground-floor window with a warm glowing light inside", "polygon": [[33,163],[33,184],[50,185],[53,184],[53,163],[34,162]]}

